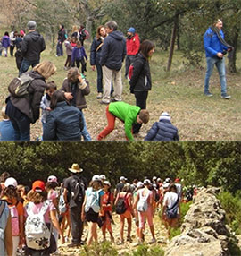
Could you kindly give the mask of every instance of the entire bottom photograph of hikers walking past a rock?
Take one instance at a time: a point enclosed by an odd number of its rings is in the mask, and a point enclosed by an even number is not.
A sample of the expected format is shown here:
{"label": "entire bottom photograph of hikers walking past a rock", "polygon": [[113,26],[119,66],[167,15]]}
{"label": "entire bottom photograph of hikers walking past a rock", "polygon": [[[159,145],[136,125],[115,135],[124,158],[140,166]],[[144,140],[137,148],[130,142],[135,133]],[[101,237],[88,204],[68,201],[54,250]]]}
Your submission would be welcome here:
{"label": "entire bottom photograph of hikers walking past a rock", "polygon": [[0,256],[241,255],[241,142],[1,142]]}

